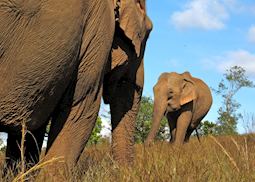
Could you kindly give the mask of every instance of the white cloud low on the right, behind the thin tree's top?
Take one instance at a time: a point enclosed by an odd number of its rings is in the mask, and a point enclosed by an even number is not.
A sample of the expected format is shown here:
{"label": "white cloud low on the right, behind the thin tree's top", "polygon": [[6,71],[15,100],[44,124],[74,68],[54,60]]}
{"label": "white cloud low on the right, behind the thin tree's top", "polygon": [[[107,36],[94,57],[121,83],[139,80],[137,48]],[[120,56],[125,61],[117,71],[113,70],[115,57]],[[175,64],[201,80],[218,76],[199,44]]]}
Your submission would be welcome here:
{"label": "white cloud low on the right, behind the thin tree's top", "polygon": [[229,51],[214,59],[219,71],[224,72],[232,66],[243,67],[247,74],[255,77],[255,54],[246,50]]}

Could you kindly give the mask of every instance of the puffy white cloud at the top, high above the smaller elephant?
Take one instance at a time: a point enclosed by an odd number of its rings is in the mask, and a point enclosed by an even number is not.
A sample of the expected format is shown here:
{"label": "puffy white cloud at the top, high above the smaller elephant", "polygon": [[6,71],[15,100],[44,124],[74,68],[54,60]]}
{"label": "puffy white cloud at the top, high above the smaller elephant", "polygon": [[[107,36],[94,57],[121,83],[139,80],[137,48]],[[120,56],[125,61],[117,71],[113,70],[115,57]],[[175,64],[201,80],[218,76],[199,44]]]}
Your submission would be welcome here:
{"label": "puffy white cloud at the top, high above the smaller elephant", "polygon": [[171,22],[179,29],[202,28],[220,30],[229,18],[227,8],[233,6],[234,0],[191,0],[183,11],[174,12]]}

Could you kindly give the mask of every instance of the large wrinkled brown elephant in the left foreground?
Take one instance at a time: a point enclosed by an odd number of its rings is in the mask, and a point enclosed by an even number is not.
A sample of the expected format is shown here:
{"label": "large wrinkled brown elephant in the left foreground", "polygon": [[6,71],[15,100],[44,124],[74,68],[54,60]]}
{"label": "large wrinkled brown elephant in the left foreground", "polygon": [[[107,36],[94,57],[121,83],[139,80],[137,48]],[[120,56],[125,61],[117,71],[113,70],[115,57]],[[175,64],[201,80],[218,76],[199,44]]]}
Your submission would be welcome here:
{"label": "large wrinkled brown elephant in the left foreground", "polygon": [[71,169],[95,125],[103,85],[113,155],[132,161],[151,29],[143,0],[0,0],[0,130],[8,133],[8,163],[20,159],[23,122],[31,133],[26,159],[38,161],[51,118],[45,160],[64,157]]}

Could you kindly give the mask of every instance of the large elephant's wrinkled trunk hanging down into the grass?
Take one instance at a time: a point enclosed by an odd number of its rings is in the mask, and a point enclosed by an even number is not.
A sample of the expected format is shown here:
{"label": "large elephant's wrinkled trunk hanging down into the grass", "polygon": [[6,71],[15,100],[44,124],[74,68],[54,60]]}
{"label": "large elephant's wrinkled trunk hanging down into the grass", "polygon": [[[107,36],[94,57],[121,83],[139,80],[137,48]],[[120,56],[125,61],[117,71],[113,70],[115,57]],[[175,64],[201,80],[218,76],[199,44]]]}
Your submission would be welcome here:
{"label": "large elephant's wrinkled trunk hanging down into the grass", "polygon": [[143,88],[143,63],[132,83],[118,84],[110,103],[112,119],[112,154],[122,164],[131,164],[134,158],[134,130]]}

